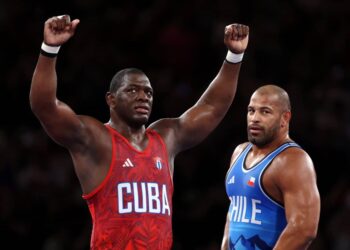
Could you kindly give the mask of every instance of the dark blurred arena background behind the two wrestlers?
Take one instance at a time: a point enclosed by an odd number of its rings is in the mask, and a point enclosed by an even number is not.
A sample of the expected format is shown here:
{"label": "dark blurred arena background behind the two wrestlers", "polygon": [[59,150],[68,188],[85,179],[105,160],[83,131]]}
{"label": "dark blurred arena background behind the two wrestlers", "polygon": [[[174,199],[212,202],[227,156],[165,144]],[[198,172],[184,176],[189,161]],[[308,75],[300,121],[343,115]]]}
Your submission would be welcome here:
{"label": "dark blurred arena background behind the two wrestlers", "polygon": [[346,0],[1,1],[1,249],[88,249],[91,218],[70,156],[45,134],[28,101],[43,23],[66,13],[81,23],[58,56],[58,97],[103,122],[112,76],[132,66],[143,69],[155,89],[150,122],[181,115],[225,58],[225,25],[250,26],[229,113],[204,142],[176,159],[175,250],[219,249],[231,152],[246,140],[249,97],[265,83],[289,92],[290,135],[314,160],[322,213],[311,249],[350,249]]}

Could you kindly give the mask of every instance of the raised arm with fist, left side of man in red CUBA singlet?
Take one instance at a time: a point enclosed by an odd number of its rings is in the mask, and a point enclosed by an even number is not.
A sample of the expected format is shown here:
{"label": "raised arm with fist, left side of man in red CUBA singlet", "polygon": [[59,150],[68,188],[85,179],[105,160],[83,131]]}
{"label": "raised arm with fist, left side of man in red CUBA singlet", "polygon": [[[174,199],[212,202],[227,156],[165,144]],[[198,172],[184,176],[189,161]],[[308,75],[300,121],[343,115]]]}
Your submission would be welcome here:
{"label": "raised arm with fist, left side of man in red CUBA singlet", "polygon": [[56,97],[56,55],[59,46],[73,35],[79,20],[70,21],[68,15],[52,17],[44,25],[44,43],[33,74],[30,105],[49,136],[57,143],[71,145],[81,127],[73,110]]}

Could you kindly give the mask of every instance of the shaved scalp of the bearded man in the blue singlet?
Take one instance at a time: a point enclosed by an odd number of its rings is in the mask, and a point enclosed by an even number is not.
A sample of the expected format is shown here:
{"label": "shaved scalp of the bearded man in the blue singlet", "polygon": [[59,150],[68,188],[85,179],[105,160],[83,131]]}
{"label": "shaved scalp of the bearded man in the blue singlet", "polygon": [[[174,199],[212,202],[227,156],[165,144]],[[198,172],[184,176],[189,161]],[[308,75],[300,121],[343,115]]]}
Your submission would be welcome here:
{"label": "shaved scalp of the bearded man in the blue singlet", "polygon": [[281,111],[291,111],[291,105],[288,93],[281,87],[273,84],[267,84],[258,88],[252,95],[254,96],[276,96],[277,105],[281,108]]}

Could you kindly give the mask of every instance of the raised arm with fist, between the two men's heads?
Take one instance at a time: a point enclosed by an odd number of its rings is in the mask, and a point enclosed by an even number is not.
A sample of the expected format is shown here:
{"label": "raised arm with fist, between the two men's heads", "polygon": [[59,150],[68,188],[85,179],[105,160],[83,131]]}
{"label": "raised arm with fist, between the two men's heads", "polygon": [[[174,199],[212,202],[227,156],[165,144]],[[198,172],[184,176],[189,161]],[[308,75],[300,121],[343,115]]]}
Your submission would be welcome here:
{"label": "raised arm with fist, between the two men's heads", "polygon": [[[170,128],[170,133],[168,129],[164,137],[171,153],[176,154],[195,146],[207,137],[224,118],[236,94],[241,67],[240,56],[243,56],[247,48],[248,37],[248,26],[242,24],[226,26],[224,43],[229,54],[218,74],[197,103],[179,118],[161,120],[151,125],[155,129],[159,127]],[[162,131],[160,133],[162,134]]]}

